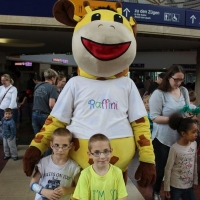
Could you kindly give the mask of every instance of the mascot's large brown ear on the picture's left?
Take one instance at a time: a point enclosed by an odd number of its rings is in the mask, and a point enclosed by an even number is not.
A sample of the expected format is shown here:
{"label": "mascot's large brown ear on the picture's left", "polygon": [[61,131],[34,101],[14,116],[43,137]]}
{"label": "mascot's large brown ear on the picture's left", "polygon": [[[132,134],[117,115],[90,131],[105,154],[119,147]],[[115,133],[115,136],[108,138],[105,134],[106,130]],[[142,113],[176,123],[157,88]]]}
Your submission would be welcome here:
{"label": "mascot's large brown ear on the picture's left", "polygon": [[75,27],[77,21],[74,15],[75,6],[70,0],[59,0],[53,6],[53,15],[57,21],[67,26]]}

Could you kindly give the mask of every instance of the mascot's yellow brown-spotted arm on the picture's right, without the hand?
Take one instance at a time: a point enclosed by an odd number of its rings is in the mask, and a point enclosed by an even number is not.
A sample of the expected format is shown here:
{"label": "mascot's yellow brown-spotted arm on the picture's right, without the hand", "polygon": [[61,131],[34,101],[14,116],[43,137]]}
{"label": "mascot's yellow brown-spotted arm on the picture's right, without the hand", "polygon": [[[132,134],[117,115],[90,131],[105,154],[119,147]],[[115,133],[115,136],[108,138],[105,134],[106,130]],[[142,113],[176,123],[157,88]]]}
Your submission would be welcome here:
{"label": "mascot's yellow brown-spotted arm on the picture's right, without the hand", "polygon": [[145,163],[155,163],[155,155],[151,141],[148,117],[142,117],[131,123],[136,145],[139,149],[139,160]]}

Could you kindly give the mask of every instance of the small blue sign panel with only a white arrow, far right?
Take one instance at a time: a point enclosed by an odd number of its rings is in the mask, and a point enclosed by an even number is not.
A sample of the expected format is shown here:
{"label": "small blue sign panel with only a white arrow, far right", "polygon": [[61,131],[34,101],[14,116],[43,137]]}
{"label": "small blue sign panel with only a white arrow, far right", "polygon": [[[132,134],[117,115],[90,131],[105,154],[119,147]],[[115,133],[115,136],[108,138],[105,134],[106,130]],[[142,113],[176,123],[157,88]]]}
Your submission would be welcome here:
{"label": "small blue sign panel with only a white arrow, far right", "polygon": [[186,10],[186,26],[200,27],[200,11]]}

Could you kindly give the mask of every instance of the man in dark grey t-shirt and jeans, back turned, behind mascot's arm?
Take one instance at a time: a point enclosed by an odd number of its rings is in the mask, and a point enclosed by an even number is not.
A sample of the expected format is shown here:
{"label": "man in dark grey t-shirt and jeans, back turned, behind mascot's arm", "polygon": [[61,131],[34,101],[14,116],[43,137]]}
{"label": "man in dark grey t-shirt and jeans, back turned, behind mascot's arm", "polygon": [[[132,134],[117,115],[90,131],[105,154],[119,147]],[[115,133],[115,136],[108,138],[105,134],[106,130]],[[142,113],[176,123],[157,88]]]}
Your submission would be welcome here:
{"label": "man in dark grey t-shirt and jeans, back turned, behind mascot's arm", "polygon": [[57,75],[53,69],[47,69],[44,71],[45,82],[35,86],[32,110],[32,127],[35,134],[41,130],[58,98],[55,86]]}

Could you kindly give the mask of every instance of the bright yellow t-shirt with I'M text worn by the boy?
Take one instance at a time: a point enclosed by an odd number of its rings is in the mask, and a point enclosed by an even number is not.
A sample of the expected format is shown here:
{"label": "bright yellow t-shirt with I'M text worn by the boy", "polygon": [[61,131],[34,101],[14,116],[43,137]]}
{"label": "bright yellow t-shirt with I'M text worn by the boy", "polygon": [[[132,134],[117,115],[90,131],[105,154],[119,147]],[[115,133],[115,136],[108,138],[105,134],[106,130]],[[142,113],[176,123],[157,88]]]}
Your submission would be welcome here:
{"label": "bright yellow t-shirt with I'M text worn by the boy", "polygon": [[122,171],[111,165],[104,176],[99,176],[92,165],[81,172],[73,198],[80,200],[117,200],[126,197]]}

